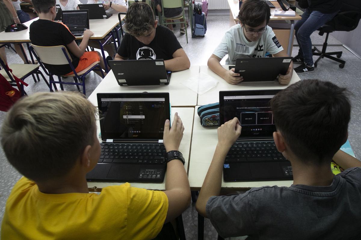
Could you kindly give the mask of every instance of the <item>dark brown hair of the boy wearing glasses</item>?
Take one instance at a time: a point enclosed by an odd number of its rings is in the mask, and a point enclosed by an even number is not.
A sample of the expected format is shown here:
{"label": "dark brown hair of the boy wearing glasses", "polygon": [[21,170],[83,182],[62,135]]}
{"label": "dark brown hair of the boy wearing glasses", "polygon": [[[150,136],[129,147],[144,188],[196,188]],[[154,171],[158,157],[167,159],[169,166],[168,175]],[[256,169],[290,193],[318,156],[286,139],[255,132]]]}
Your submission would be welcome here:
{"label": "dark brown hair of the boy wearing glasses", "polygon": [[239,9],[238,19],[240,23],[250,27],[258,27],[266,20],[270,21],[271,10],[264,0],[247,0]]}

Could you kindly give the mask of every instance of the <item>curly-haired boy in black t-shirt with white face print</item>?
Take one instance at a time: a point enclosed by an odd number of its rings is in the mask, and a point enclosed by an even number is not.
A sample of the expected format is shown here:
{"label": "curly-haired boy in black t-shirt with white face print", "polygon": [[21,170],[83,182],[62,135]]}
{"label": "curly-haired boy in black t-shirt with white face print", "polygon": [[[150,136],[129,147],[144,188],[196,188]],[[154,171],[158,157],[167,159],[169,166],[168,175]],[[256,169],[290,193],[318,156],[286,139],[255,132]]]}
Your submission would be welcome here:
{"label": "curly-haired boy in black t-shirt with white face print", "polygon": [[146,3],[129,6],[126,35],[118,48],[115,60],[164,59],[169,71],[190,68],[190,61],[174,34],[154,19],[152,8]]}

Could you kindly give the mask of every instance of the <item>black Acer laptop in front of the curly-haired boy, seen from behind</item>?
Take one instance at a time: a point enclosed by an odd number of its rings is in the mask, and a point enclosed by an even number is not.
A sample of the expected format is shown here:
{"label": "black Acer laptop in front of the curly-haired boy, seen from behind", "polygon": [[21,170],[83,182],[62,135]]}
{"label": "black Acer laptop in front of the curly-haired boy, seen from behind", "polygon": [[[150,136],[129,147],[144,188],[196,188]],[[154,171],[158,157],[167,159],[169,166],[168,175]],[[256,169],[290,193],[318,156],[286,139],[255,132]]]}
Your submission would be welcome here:
{"label": "black Acer laptop in front of the curly-haired boy, seen from behind", "polygon": [[119,85],[168,85],[170,71],[163,59],[109,61]]}

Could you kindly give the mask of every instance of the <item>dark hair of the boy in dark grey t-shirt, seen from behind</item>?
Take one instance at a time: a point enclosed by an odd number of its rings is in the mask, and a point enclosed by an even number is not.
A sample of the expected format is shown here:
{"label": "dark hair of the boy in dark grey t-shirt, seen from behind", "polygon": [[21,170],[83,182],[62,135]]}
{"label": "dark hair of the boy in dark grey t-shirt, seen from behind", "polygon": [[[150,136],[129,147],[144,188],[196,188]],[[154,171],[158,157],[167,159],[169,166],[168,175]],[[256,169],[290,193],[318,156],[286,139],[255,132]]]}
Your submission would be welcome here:
{"label": "dark hair of the boy in dark grey t-shirt, seen from behind", "polygon": [[331,82],[303,80],[271,99],[276,128],[299,159],[325,163],[344,144],[351,113],[347,94]]}

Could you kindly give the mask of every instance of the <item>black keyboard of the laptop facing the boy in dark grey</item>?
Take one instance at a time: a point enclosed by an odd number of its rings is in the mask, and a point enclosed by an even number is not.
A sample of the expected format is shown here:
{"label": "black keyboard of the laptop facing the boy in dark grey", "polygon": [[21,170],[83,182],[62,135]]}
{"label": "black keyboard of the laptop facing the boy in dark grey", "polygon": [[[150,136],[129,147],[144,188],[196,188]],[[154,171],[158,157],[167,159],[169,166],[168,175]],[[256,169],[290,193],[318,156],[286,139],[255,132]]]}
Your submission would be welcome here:
{"label": "black keyboard of the laptop facing the boy in dark grey", "polygon": [[229,150],[225,162],[285,161],[274,141],[236,142]]}

